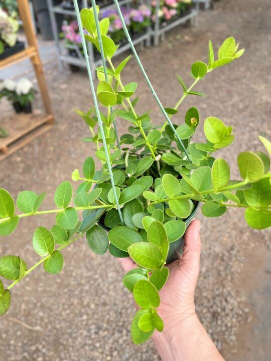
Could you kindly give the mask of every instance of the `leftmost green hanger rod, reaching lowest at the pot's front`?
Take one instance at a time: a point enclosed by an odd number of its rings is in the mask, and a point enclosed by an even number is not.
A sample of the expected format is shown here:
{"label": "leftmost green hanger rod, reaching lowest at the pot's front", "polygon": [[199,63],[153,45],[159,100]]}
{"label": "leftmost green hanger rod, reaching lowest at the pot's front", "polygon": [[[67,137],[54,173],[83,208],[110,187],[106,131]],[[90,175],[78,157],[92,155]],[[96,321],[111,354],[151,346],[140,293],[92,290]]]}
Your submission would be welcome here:
{"label": "leftmost green hanger rod, reaching lowest at the pot's front", "polygon": [[107,165],[108,165],[108,171],[109,171],[109,174],[110,174],[110,180],[111,180],[111,184],[112,184],[113,194],[114,194],[114,198],[115,198],[119,218],[120,218],[121,223],[123,224],[123,218],[122,218],[122,214],[121,214],[121,211],[120,211],[118,198],[117,198],[117,194],[116,194],[115,183],[114,183],[114,178],[113,178],[109,153],[108,153],[107,144],[106,144],[106,140],[105,140],[105,135],[104,135],[104,131],[103,131],[102,120],[101,120],[101,116],[100,116],[100,112],[99,112],[99,106],[98,106],[98,102],[97,102],[97,98],[96,98],[94,83],[93,83],[91,70],[90,70],[90,65],[89,65],[89,61],[88,61],[88,53],[87,53],[86,41],[85,41],[85,37],[84,37],[84,32],[83,32],[83,27],[82,27],[80,11],[79,11],[79,8],[78,8],[77,0],[73,0],[73,4],[74,4],[74,8],[75,8],[75,13],[76,13],[78,26],[79,26],[79,32],[80,32],[81,39],[82,39],[84,57],[85,57],[85,60],[86,60],[87,73],[88,73],[90,88],[91,88],[91,92],[92,92],[92,97],[93,97],[93,101],[94,101],[94,105],[95,105],[95,109],[96,109],[96,113],[97,113],[98,123],[99,123],[100,131],[101,131],[101,136],[102,136],[102,141],[103,141],[103,146],[104,146],[104,152],[105,152],[106,161],[107,161]]}

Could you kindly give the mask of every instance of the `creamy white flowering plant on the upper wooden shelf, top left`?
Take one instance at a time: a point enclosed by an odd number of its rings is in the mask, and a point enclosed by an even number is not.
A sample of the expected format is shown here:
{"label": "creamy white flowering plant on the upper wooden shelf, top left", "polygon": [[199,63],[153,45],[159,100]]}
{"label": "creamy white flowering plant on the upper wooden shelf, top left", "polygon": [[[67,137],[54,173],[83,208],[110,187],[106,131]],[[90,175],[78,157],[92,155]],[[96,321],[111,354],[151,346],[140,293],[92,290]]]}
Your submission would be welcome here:
{"label": "creamy white flowering plant on the upper wooden shelf, top left", "polygon": [[25,48],[25,43],[17,41],[19,23],[14,16],[0,8],[0,60],[16,54]]}

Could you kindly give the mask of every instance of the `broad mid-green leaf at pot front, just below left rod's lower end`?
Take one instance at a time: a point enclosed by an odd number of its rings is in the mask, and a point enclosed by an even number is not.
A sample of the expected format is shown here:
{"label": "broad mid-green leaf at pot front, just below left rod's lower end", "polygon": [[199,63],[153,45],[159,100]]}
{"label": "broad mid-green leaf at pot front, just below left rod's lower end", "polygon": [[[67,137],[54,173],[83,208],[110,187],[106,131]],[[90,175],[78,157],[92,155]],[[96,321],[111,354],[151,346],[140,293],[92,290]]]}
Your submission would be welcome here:
{"label": "broad mid-green leaf at pot front, just below left rod's lower end", "polygon": [[127,252],[133,243],[142,242],[141,235],[128,227],[115,227],[108,232],[109,241],[117,248]]}

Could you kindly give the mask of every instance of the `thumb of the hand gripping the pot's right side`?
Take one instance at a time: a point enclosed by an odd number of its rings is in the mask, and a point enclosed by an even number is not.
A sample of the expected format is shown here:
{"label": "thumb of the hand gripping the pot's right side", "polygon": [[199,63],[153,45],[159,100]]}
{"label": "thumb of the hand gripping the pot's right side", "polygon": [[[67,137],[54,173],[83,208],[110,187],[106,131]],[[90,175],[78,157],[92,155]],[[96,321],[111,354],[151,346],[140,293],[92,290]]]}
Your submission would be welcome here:
{"label": "thumb of the hand gripping the pot's right side", "polygon": [[199,231],[200,221],[194,220],[185,233],[183,257],[181,258],[182,268],[184,267],[187,270],[191,281],[195,286],[198,279],[200,264],[201,241]]}

